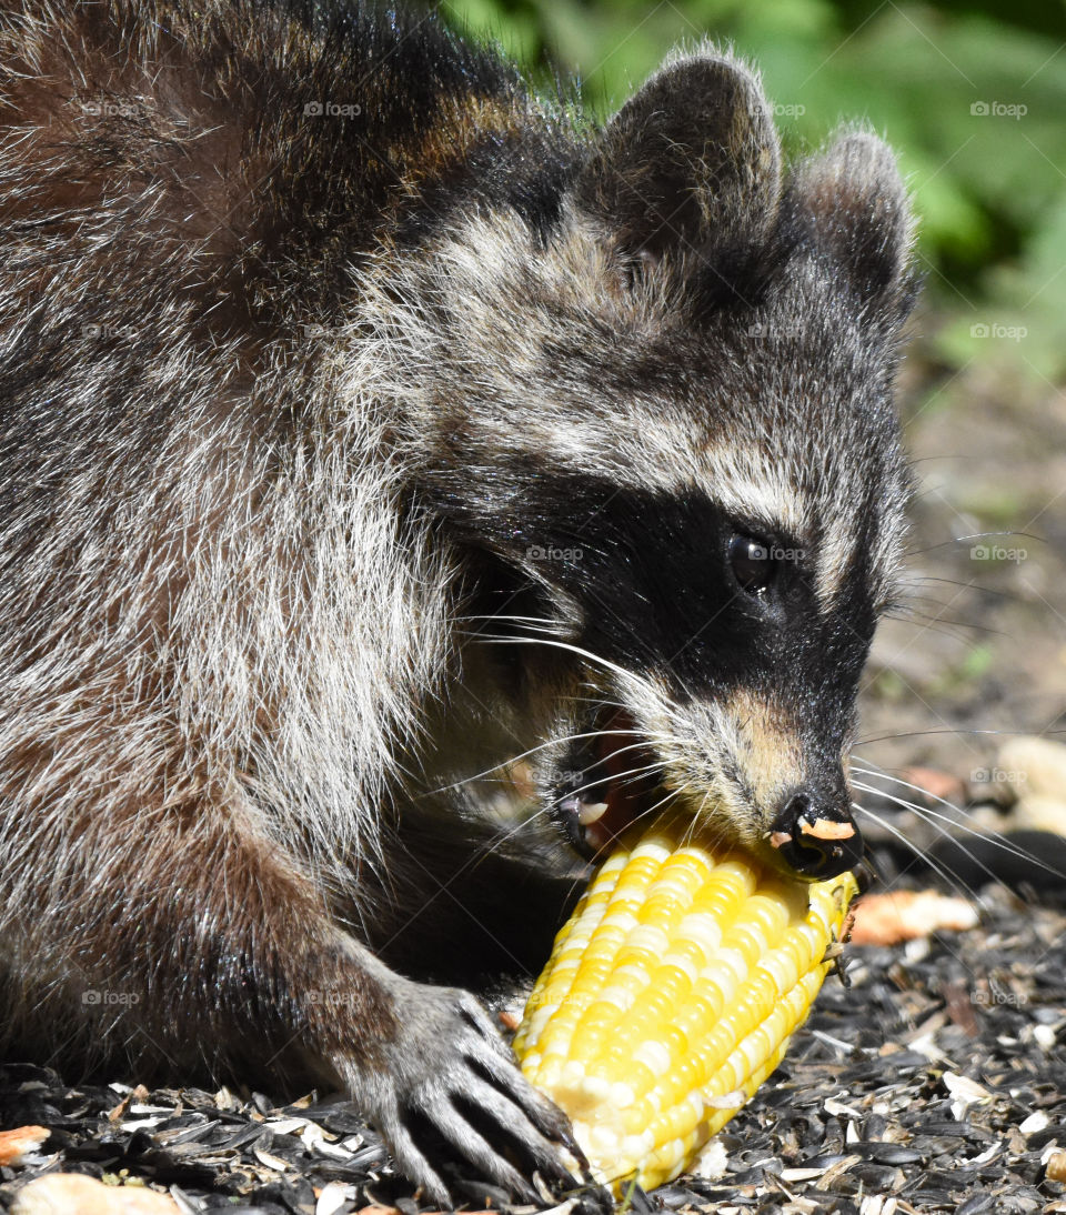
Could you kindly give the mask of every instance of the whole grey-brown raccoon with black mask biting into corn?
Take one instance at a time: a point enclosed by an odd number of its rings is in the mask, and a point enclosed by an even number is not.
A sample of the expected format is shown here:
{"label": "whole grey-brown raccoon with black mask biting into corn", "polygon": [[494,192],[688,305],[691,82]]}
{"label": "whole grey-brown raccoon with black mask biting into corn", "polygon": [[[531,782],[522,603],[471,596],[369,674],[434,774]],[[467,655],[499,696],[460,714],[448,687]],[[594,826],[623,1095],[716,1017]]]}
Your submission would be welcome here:
{"label": "whole grey-brown raccoon with black mask biting into corn", "polygon": [[786,171],[707,44],[596,125],[432,16],[15,0],[0,214],[6,1049],[341,1085],[441,1205],[567,1183],[466,990],[543,962],[562,849],[860,850],[890,151]]}

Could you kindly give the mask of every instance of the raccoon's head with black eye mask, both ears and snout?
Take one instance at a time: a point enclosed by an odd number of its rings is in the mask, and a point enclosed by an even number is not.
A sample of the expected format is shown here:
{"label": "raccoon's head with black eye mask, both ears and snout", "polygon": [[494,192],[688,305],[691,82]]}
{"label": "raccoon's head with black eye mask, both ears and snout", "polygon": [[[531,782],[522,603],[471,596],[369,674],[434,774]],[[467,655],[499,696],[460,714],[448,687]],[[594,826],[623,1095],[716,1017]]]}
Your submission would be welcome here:
{"label": "raccoon's head with black eye mask, both ears and snout", "polygon": [[784,174],[758,80],[702,51],[599,134],[546,236],[480,216],[436,250],[432,496],[488,554],[521,686],[545,650],[571,663],[545,753],[575,838],[673,801],[807,877],[858,859],[909,238],[884,143]]}

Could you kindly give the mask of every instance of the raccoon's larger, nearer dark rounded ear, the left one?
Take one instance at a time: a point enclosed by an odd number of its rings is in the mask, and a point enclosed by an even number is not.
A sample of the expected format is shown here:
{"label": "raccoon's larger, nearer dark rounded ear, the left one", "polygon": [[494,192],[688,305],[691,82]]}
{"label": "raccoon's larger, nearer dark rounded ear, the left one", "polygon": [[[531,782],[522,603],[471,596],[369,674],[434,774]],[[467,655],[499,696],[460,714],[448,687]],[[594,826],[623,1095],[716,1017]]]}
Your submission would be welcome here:
{"label": "raccoon's larger, nearer dark rounded ear, the left one", "polygon": [[600,134],[578,203],[626,250],[733,250],[765,237],[781,149],[756,78],[711,52],[667,60]]}

